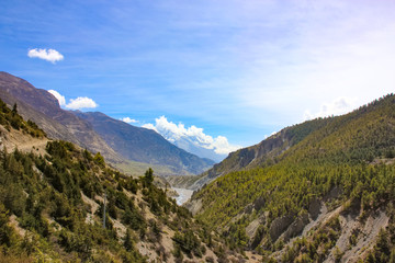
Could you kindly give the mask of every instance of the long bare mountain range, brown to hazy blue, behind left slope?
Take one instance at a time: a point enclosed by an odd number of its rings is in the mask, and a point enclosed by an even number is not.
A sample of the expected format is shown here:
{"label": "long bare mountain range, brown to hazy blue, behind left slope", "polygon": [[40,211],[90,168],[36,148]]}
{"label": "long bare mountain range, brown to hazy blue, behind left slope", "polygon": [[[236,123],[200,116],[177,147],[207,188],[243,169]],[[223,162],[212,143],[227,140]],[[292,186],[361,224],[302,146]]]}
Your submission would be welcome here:
{"label": "long bare mountain range, brown to hazy blue, behind left slope", "polygon": [[214,163],[177,148],[153,130],[100,113],[63,110],[49,92],[7,72],[0,72],[0,91],[5,103],[16,103],[19,113],[37,123],[50,138],[101,152],[111,163],[129,173],[153,167],[158,174],[198,174]]}

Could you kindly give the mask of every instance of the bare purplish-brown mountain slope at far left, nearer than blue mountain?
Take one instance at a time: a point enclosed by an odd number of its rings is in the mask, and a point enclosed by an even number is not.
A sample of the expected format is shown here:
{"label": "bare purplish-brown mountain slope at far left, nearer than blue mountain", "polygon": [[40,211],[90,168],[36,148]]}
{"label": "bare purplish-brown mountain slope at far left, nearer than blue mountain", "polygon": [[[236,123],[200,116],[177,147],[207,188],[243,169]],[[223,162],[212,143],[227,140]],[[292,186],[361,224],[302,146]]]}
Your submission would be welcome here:
{"label": "bare purplish-brown mountain slope at far left, nearer than blue mountain", "polygon": [[52,138],[72,141],[93,152],[100,151],[112,162],[124,160],[92,129],[91,125],[60,108],[49,92],[27,81],[0,72],[0,98],[9,105],[18,104],[19,113],[32,119]]}

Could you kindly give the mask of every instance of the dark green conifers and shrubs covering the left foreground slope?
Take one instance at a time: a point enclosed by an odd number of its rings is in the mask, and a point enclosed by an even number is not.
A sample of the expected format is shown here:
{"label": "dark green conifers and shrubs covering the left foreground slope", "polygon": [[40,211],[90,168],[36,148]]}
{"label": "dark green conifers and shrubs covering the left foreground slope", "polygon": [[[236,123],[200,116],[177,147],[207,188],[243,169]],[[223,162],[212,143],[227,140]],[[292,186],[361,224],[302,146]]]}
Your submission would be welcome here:
{"label": "dark green conifers and shrubs covering the left foreground slope", "polygon": [[[37,157],[19,150],[0,157],[0,245],[5,259],[21,258],[60,261],[144,262],[135,243],[138,240],[159,242],[161,226],[168,225],[176,235],[176,250],[203,256],[204,247],[196,247],[201,226],[192,222],[190,213],[177,206],[165,191],[153,184],[154,171],[133,179],[105,167],[98,156],[80,151],[67,141],[49,141],[48,155]],[[103,167],[104,165],[104,167]],[[156,220],[144,217],[144,205],[128,195],[143,194]],[[99,202],[106,194],[106,221],[102,227],[103,203],[94,215],[82,195]],[[125,194],[128,193],[128,194]],[[14,215],[25,237],[7,224]],[[91,222],[87,222],[92,218]],[[114,220],[126,226],[121,239]],[[188,230],[187,230],[188,229]],[[210,239],[211,239],[211,235]],[[32,241],[30,241],[32,240]],[[180,242],[188,241],[179,247]],[[108,251],[108,253],[99,253]],[[104,260],[106,261],[106,260]]]}

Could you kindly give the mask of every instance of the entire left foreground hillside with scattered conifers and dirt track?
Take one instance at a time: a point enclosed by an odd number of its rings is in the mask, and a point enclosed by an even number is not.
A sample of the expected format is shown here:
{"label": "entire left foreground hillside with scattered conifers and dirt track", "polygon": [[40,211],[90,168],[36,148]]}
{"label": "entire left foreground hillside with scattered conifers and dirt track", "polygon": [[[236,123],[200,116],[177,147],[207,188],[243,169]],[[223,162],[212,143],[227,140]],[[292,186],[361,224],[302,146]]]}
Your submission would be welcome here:
{"label": "entire left foreground hillside with scattered conifers and dirt track", "polygon": [[46,138],[0,101],[0,262],[245,262],[153,180]]}

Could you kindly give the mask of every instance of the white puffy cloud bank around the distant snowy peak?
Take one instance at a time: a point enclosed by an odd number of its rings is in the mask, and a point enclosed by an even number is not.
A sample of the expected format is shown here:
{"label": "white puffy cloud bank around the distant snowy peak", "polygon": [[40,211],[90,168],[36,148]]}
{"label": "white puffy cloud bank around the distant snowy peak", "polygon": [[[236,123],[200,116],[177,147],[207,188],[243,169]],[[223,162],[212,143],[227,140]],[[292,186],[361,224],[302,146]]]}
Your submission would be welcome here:
{"label": "white puffy cloud bank around the distant snowy peak", "polygon": [[230,145],[224,136],[213,138],[212,136],[204,134],[203,128],[199,128],[194,125],[185,128],[182,123],[177,125],[169,122],[165,116],[156,118],[155,125],[145,124],[143,127],[156,130],[171,142],[187,139],[194,146],[213,150],[217,155],[227,155],[241,148],[240,146]]}

